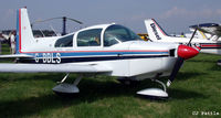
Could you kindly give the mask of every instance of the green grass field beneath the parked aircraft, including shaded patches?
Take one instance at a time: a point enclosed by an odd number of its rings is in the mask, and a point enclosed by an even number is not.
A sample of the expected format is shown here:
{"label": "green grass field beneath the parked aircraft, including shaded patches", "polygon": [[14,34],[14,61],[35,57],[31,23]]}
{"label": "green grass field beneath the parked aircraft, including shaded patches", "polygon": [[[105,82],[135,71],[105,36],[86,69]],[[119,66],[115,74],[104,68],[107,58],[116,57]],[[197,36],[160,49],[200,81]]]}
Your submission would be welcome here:
{"label": "green grass field beneath the parked aircraft, including shaded patches", "polygon": [[[4,46],[3,51],[8,49]],[[0,74],[0,118],[221,117],[221,66],[215,64],[219,58],[221,56],[200,54],[187,61],[168,88],[170,98],[164,101],[148,100],[135,94],[158,86],[148,79],[131,87],[113,77],[83,78],[78,85],[81,93],[64,98],[51,89],[64,74]],[[75,77],[74,74],[70,76]],[[201,115],[204,111],[213,115]]]}

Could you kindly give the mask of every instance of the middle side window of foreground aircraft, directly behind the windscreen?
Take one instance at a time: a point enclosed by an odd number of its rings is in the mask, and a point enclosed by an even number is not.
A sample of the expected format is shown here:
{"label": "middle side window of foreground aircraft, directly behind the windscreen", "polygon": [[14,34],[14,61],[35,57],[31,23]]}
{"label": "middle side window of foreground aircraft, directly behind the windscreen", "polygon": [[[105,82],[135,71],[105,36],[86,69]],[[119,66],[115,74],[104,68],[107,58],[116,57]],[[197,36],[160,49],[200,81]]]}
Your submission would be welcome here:
{"label": "middle side window of foreground aircraft, directly behind the windscreen", "polygon": [[101,46],[102,29],[82,31],[77,35],[77,46]]}

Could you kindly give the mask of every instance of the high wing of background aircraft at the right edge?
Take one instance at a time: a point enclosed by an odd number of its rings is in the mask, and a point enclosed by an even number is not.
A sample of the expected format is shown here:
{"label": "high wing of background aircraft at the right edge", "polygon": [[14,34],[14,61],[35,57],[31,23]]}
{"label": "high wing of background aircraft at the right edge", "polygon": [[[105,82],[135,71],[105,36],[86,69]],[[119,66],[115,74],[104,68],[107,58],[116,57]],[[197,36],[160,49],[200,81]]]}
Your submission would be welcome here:
{"label": "high wing of background aircraft at the right edge", "polygon": [[198,29],[204,33],[221,36],[221,25],[217,23],[202,23],[198,25],[191,25],[191,29]]}

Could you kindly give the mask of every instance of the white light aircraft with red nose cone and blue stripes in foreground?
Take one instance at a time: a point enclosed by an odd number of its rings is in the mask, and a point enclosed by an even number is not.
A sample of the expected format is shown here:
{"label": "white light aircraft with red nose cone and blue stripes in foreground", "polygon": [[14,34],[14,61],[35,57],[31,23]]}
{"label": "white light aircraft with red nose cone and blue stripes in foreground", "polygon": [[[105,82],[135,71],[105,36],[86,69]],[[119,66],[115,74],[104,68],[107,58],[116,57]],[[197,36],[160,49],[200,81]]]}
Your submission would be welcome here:
{"label": "white light aircraft with red nose cone and blue stripes in foreground", "polygon": [[[139,95],[167,98],[166,85],[157,77],[170,76],[171,84],[183,61],[199,51],[179,44],[146,43],[129,29],[118,24],[99,24],[63,36],[33,37],[27,8],[18,10],[17,64],[0,64],[0,72],[66,73],[53,88],[55,93],[80,93],[77,84],[87,74],[105,74],[127,81],[151,78],[164,86],[137,92]],[[70,73],[80,76],[65,84]]]}

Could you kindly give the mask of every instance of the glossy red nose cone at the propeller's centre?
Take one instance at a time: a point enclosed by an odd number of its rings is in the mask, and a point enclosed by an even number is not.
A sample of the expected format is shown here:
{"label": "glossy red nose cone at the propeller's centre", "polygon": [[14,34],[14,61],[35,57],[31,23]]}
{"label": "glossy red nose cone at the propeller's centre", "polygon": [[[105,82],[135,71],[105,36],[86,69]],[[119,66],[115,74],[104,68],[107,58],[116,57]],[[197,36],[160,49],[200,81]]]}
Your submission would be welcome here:
{"label": "glossy red nose cone at the propeller's centre", "polygon": [[187,46],[187,45],[179,45],[178,47],[178,56],[188,60],[199,54],[200,49],[198,50]]}

